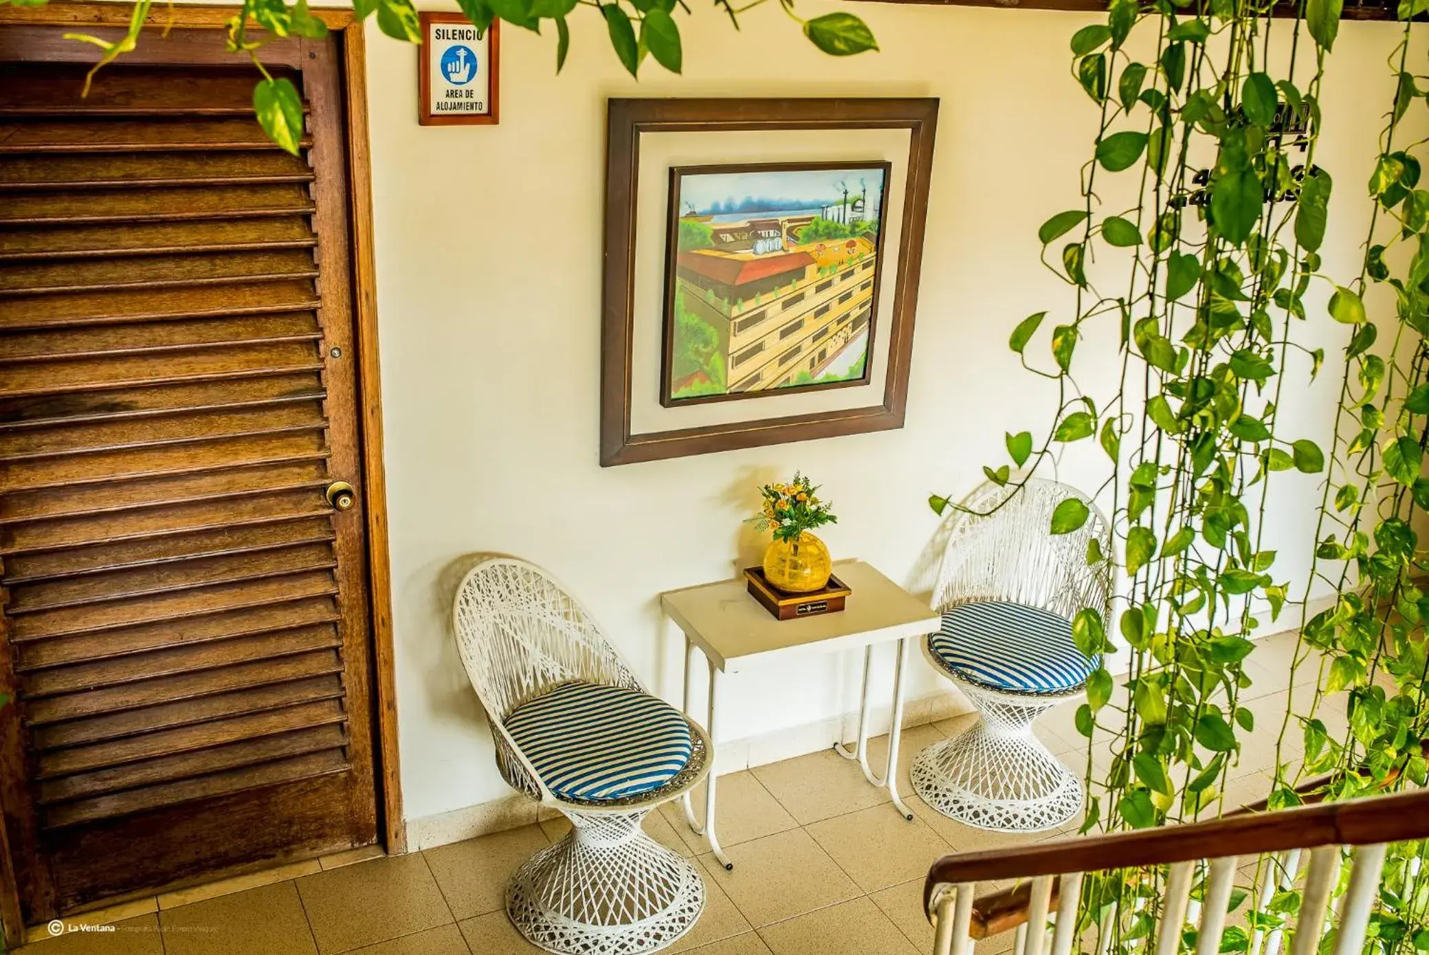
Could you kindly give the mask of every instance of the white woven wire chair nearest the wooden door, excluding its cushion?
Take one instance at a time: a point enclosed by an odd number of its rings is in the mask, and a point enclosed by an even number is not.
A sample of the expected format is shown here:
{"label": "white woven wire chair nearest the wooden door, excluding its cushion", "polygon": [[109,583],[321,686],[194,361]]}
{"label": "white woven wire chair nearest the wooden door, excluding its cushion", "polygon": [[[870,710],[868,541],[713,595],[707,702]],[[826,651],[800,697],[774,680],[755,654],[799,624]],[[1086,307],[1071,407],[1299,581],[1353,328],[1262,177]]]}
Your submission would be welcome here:
{"label": "white woven wire chair nearest the wooden door, excluding its cushion", "polygon": [[506,889],[512,924],[550,952],[630,955],[673,944],[704,909],[704,884],[689,861],[647,836],[640,822],[706,776],[709,736],[686,719],[689,762],[650,792],[599,801],[557,796],[504,721],[523,703],[577,681],[649,691],[590,613],[524,560],[477,563],[457,588],[453,620],[462,663],[492,725],[502,776],[572,822],[564,839],[512,876]]}

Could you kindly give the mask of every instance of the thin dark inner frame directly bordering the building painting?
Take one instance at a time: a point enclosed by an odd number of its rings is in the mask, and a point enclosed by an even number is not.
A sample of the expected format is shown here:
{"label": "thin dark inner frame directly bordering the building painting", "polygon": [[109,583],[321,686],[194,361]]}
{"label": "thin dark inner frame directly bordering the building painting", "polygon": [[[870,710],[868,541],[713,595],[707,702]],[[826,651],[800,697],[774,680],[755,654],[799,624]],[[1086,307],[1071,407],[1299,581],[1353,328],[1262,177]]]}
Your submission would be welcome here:
{"label": "thin dark inner frame directly bordering the building painting", "polygon": [[[767,387],[755,392],[726,390],[723,395],[700,395],[697,397],[674,397],[670,392],[670,376],[674,372],[674,296],[677,290],[677,274],[680,257],[680,180],[684,176],[737,176],[739,173],[779,173],[779,172],[836,172],[846,169],[850,172],[860,169],[879,169],[883,172],[883,187],[879,190],[879,239],[887,230],[887,192],[889,177],[893,174],[893,163],[885,159],[870,159],[867,162],[839,162],[839,163],[730,163],[712,166],[672,166],[670,167],[670,209],[669,232],[664,239],[664,317],[662,320],[660,343],[660,405],[664,407],[683,407],[686,405],[703,405],[709,402],[737,402],[753,397],[773,397],[780,395],[795,395],[805,392],[823,392],[833,387],[849,387],[853,385],[867,385],[873,375],[873,336],[879,325],[879,292],[883,290],[883,246],[873,249],[873,295],[869,297],[869,335],[865,343],[863,375],[842,382],[823,382],[813,385],[786,385],[783,387]],[[733,316],[732,316],[733,317]],[[899,316],[895,315],[895,319]],[[733,339],[733,333],[730,335]],[[732,356],[733,357],[733,356]],[[726,387],[729,382],[726,382]]]}

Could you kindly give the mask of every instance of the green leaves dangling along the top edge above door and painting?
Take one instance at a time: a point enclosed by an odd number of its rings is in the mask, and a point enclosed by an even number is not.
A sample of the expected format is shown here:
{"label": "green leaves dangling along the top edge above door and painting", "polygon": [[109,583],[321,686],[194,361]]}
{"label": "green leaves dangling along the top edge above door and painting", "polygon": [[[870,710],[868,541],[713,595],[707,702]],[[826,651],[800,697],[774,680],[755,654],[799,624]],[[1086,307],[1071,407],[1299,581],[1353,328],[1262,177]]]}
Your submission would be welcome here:
{"label": "green leaves dangling along the top edge above door and painting", "polygon": [[[0,4],[37,7],[49,0],[0,0]],[[739,29],[739,16],[767,0],[749,0],[736,4],[735,0],[713,0],[730,24]],[[799,24],[799,29],[819,50],[830,56],[853,56],[877,50],[873,31],[856,14],[846,10],[825,13],[803,19],[795,10],[793,0],[777,0],[780,9]],[[542,24],[556,30],[556,71],[566,64],[570,51],[570,27],[567,17],[577,7],[589,7],[606,26],[610,47],[630,76],[639,76],[646,59],[679,73],[684,63],[684,49],[680,39],[679,14],[690,13],[686,0],[457,0],[466,19],[479,31],[484,31],[497,19],[506,23],[542,31]],[[90,43],[100,49],[99,63],[90,70],[83,94],[89,94],[89,81],[94,74],[134,50],[140,33],[150,24],[153,0],[134,0],[129,29],[116,40],[86,33],[67,33],[77,43]],[[377,26],[390,37],[407,43],[422,40],[417,9],[412,0],[353,0],[353,11],[360,20],[376,16]],[[230,53],[246,54],[257,69],[260,79],[253,87],[253,112],[269,139],[289,153],[297,154],[303,132],[303,103],[297,87],[283,76],[272,76],[260,63],[257,50],[264,43],[284,37],[322,39],[327,26],[314,14],[307,0],[243,0],[229,20],[227,47]]]}

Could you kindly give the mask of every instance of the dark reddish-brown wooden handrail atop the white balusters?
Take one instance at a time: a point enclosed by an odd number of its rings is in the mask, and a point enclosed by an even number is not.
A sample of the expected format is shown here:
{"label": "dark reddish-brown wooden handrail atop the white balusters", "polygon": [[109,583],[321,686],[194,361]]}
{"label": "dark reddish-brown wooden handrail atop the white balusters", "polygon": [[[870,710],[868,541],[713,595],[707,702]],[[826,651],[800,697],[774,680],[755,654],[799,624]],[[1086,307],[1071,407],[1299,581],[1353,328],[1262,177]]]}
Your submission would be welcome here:
{"label": "dark reddish-brown wooden handrail atop the white balusters", "polygon": [[[1073,836],[1012,849],[945,855],[923,884],[923,911],[940,886],[1167,865],[1222,855],[1258,856],[1322,845],[1429,838],[1429,791],[1243,813],[1185,825]],[[1010,915],[1010,912],[1009,912]],[[1010,925],[1009,925],[1010,926]]]}

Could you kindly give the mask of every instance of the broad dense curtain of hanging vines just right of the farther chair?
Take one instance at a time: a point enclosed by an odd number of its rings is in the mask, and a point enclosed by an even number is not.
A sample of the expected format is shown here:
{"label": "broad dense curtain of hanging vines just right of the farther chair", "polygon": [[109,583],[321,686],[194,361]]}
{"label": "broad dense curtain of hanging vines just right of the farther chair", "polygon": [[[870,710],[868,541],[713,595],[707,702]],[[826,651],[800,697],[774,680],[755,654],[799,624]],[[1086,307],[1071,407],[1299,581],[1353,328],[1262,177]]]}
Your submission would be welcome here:
{"label": "broad dense curtain of hanging vines just right of the farther chair", "polygon": [[[1116,620],[1073,620],[1087,655],[1112,653],[1115,626],[1129,648],[1126,693],[1103,669],[1076,723],[1112,736],[1112,766],[1093,775],[1083,828],[1145,828],[1215,803],[1236,753],[1242,663],[1262,620],[1279,615],[1286,585],[1262,548],[1266,488],[1280,470],[1319,473],[1323,453],[1276,429],[1288,373],[1313,377],[1322,356],[1296,343],[1305,296],[1319,269],[1330,180],[1313,164],[1325,51],[1338,20],[1309,23],[1315,64],[1296,77],[1306,21],[1283,21],[1292,53],[1272,77],[1276,21],[1248,3],[1200,16],[1169,3],[1112,3],[1106,24],[1072,39],[1073,73],[1100,110],[1082,204],[1040,229],[1043,260],[1075,290],[1075,313],[1050,333],[1052,367],[1029,359],[1046,313],[1023,320],[1010,347],[1062,392],[1057,422],[1033,452],[1009,435],[1010,467],[1035,470],[1059,446],[1096,439],[1107,460],[1126,606]],[[1149,61],[1133,34],[1155,33]],[[1140,37],[1137,37],[1140,39]],[[1298,83],[1299,80],[1299,83]],[[1102,193],[1135,177],[1125,209]],[[1075,232],[1075,237],[1066,237]],[[1047,253],[1052,253],[1050,256]],[[1338,290],[1330,312],[1363,312]],[[1116,323],[1120,375],[1109,396],[1077,387],[1077,347],[1093,323]],[[1306,360],[1300,360],[1306,359]],[[1305,366],[1305,367],[1299,367]],[[936,498],[935,508],[947,505]],[[1069,500],[1052,533],[1087,515]]]}

